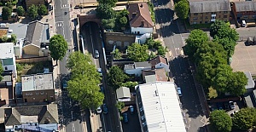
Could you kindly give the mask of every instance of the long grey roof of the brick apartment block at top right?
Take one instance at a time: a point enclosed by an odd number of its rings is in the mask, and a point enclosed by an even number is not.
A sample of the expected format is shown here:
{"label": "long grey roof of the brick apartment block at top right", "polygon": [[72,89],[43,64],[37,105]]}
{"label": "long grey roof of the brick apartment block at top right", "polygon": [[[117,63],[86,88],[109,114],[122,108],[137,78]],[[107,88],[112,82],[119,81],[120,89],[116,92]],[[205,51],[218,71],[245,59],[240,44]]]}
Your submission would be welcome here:
{"label": "long grey roof of the brick apartment block at top right", "polygon": [[231,11],[230,0],[189,0],[190,13]]}

